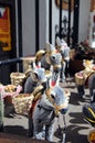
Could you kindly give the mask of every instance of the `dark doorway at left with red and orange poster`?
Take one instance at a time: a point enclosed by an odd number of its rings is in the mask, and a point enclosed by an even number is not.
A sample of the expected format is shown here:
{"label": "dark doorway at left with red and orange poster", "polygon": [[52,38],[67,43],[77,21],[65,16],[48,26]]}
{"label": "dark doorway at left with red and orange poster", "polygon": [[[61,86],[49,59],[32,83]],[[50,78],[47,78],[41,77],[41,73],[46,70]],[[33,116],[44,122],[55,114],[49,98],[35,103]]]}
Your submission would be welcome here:
{"label": "dark doorway at left with red and orange poster", "polygon": [[[0,63],[17,57],[15,2],[0,0]],[[0,82],[10,82],[10,73],[17,70],[15,64],[0,65]]]}

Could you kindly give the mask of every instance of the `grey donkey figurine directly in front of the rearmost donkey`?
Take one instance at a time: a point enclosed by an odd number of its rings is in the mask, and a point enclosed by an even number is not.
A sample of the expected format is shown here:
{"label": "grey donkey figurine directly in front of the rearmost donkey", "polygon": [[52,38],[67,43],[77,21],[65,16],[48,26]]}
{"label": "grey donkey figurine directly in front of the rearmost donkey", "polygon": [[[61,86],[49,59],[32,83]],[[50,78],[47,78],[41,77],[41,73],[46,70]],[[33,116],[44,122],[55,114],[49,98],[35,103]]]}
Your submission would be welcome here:
{"label": "grey donkey figurine directly in front of the rearmost donkey", "polygon": [[44,52],[38,51],[35,54],[35,63],[41,63],[41,67],[45,70],[51,70],[55,80],[59,79],[61,73],[61,53],[50,43],[46,43]]}

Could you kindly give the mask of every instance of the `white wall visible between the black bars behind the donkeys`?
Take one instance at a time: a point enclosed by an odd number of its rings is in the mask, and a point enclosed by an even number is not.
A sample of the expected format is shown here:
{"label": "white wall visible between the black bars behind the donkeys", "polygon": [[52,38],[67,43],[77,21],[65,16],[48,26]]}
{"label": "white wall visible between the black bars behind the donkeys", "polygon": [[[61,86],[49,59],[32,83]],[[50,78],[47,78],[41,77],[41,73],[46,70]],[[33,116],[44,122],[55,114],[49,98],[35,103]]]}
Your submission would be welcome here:
{"label": "white wall visible between the black bars behind the donkeys", "polygon": [[[49,42],[49,0],[40,2],[40,48]],[[80,32],[78,42],[88,36],[89,0],[80,1]],[[67,10],[62,15],[68,16]],[[60,8],[52,0],[52,43],[55,44],[55,25],[60,24]],[[73,25],[73,11],[71,12],[71,26]],[[22,48],[23,56],[35,54],[35,0],[22,0]]]}

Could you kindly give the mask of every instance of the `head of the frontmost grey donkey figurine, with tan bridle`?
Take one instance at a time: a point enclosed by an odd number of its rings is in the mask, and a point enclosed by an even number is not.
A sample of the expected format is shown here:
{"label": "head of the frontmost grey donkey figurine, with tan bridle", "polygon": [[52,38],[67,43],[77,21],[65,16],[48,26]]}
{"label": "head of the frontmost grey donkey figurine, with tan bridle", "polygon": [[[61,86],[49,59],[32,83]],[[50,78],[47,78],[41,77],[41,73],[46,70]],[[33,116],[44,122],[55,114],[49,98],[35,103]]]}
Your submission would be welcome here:
{"label": "head of the frontmost grey donkey figurine, with tan bridle", "polygon": [[55,112],[65,113],[68,107],[68,97],[60,86],[49,88],[43,96],[43,102],[54,108]]}

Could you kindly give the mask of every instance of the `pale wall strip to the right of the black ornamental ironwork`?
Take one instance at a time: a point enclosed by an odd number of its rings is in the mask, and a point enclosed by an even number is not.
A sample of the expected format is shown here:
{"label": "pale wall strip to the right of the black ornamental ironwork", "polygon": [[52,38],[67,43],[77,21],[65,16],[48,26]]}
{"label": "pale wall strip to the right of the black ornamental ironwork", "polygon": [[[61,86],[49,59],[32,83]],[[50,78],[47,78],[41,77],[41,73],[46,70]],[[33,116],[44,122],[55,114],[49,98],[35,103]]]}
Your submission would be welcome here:
{"label": "pale wall strip to the right of the black ornamental ironwork", "polygon": [[84,41],[88,36],[89,9],[91,9],[91,0],[80,1],[78,42]]}

